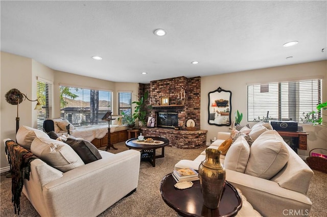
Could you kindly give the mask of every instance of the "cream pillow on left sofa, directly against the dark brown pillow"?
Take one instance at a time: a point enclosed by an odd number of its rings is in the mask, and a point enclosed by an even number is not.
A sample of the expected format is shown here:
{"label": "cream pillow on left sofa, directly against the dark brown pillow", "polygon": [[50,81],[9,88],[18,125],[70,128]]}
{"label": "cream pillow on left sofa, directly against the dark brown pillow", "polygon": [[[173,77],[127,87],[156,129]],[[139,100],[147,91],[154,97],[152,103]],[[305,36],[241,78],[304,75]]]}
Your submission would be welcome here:
{"label": "cream pillow on left sofa, directly against the dark brown pillow", "polygon": [[68,144],[49,137],[36,137],[31,144],[31,152],[63,173],[84,165]]}

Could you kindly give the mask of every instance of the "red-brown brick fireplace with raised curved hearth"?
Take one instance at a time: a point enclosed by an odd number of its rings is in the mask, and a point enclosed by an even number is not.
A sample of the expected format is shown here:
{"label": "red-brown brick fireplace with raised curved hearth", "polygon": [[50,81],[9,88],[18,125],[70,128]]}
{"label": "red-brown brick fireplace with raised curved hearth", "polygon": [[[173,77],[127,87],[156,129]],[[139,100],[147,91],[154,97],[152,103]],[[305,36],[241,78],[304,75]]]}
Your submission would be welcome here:
{"label": "red-brown brick fireplace with raised curved hearth", "polygon": [[[165,136],[176,148],[194,149],[205,146],[206,130],[200,130],[200,91],[201,77],[177,77],[151,81],[149,84],[139,84],[138,95],[149,92],[148,104],[152,109],[147,116],[156,117],[157,112],[178,112],[178,126],[181,130],[172,128],[141,128],[145,136]],[[169,98],[168,105],[162,105],[161,98]],[[186,122],[193,119],[195,129],[186,130]]]}

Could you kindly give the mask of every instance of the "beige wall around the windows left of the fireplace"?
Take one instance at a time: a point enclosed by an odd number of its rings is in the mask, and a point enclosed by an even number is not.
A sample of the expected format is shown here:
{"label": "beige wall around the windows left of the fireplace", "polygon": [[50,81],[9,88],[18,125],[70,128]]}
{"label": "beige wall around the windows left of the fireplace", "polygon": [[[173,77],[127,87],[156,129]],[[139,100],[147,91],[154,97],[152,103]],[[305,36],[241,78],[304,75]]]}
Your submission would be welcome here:
{"label": "beige wall around the windows left of the fireplace", "polygon": [[[37,95],[37,78],[53,82],[52,117],[60,116],[59,84],[111,90],[114,102],[113,115],[118,114],[118,91],[130,91],[132,92],[132,101],[137,100],[137,83],[111,82],[56,71],[30,58],[1,52],[0,95],[4,96],[8,90],[17,88],[20,92],[27,94],[29,99],[35,100]],[[19,104],[20,126],[37,127],[37,111],[34,110],[35,105],[35,102],[27,100]],[[3,139],[11,138],[15,140],[17,106],[7,103],[5,97],[1,97],[0,109],[0,168],[1,172],[3,172],[8,170]]]}

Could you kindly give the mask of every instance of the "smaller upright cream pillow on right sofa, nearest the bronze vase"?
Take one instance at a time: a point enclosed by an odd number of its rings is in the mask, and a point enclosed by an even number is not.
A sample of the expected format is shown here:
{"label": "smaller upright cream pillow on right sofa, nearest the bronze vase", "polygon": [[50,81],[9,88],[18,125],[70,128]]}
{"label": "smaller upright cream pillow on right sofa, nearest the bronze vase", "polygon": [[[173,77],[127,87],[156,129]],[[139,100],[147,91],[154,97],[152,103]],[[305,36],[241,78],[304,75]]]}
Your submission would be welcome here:
{"label": "smaller upright cream pillow on right sofa, nearest the bronze vase", "polygon": [[224,167],[228,170],[244,173],[250,156],[250,147],[243,136],[231,144],[225,156]]}

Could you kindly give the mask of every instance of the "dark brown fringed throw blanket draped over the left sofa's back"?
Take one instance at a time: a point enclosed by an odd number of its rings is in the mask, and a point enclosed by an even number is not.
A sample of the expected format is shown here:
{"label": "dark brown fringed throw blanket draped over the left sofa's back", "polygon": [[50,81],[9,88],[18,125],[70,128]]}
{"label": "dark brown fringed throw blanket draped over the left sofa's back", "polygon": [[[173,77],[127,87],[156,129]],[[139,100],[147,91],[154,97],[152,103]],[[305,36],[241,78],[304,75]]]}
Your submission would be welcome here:
{"label": "dark brown fringed throw blanket draped over the left sofa's back", "polygon": [[37,156],[33,155],[27,149],[22,148],[13,140],[6,141],[6,154],[8,154],[8,163],[11,170],[11,192],[14,203],[15,214],[19,215],[20,195],[24,179],[30,179],[31,161]]}

